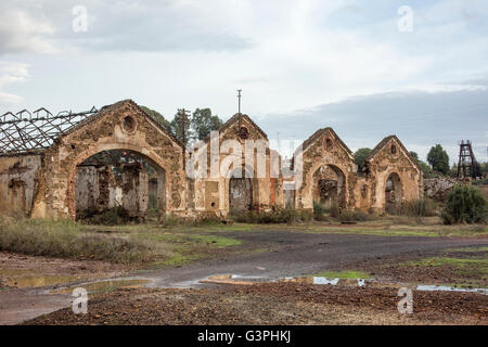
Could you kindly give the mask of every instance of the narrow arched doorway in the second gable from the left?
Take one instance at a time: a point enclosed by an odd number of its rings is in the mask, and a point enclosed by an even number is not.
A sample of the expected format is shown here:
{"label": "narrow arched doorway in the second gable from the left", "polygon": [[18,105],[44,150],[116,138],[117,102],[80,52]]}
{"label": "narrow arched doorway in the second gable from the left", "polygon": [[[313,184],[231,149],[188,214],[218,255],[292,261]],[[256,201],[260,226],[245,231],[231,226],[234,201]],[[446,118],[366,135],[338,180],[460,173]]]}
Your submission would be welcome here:
{"label": "narrow arched doorway in the second gable from the left", "polygon": [[245,170],[235,169],[229,179],[229,211],[243,211],[253,208],[253,180]]}

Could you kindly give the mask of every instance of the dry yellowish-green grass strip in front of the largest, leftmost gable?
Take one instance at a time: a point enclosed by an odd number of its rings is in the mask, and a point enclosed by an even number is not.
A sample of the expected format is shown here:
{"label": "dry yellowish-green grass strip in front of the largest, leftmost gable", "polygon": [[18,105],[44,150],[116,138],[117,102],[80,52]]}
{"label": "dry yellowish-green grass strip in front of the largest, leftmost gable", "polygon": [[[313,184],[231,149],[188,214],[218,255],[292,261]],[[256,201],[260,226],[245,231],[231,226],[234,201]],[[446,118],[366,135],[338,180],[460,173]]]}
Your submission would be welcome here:
{"label": "dry yellowish-green grass strip in front of the largest, leftmost gable", "polygon": [[210,233],[249,229],[242,224],[167,229],[156,223],[88,226],[69,220],[0,218],[0,250],[79,260],[182,265],[242,244]]}

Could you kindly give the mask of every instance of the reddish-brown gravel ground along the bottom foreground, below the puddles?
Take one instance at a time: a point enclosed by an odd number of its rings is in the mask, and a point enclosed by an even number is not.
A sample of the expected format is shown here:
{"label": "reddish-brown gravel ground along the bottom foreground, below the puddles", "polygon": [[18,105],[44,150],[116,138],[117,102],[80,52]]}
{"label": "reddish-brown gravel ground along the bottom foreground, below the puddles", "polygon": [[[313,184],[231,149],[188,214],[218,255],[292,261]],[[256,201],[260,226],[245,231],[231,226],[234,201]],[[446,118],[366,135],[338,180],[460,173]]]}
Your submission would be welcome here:
{"label": "reddish-brown gravel ground along the bottom foreground, below the puddles", "polygon": [[87,314],[66,308],[25,324],[488,324],[486,295],[414,291],[406,316],[397,294],[300,283],[125,288],[92,297]]}

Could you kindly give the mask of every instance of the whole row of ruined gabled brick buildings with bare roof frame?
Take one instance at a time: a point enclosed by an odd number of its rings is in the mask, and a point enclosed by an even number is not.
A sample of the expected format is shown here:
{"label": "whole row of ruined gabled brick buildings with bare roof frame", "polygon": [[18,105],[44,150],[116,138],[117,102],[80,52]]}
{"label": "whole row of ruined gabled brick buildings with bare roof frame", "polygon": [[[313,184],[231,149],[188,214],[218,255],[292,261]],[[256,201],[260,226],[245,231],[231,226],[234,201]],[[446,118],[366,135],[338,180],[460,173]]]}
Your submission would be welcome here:
{"label": "whole row of ruined gabled brick buildings with bare roof frame", "polygon": [[[86,114],[40,111],[47,113],[0,117],[2,214],[76,219],[121,206],[142,219],[149,210],[224,218],[231,210],[285,205],[312,209],[314,201],[383,211],[423,192],[422,171],[395,136],[376,145],[358,175],[347,145],[331,128],[320,129],[303,143],[300,184],[291,185],[267,134],[243,114],[231,117],[217,139],[185,150],[131,100]],[[65,128],[56,123],[77,117]],[[36,123],[44,127],[31,127]],[[192,176],[188,167],[205,175]]]}

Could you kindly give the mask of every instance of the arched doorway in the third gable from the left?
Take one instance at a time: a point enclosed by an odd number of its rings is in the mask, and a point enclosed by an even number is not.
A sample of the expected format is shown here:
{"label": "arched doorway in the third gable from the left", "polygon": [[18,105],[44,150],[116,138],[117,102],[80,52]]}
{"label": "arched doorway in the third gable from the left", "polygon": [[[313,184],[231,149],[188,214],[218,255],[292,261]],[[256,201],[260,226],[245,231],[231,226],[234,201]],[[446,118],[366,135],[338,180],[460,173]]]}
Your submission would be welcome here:
{"label": "arched doorway in the third gable from the left", "polygon": [[325,208],[346,207],[346,180],[335,165],[323,165],[313,172],[312,198]]}

